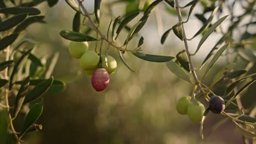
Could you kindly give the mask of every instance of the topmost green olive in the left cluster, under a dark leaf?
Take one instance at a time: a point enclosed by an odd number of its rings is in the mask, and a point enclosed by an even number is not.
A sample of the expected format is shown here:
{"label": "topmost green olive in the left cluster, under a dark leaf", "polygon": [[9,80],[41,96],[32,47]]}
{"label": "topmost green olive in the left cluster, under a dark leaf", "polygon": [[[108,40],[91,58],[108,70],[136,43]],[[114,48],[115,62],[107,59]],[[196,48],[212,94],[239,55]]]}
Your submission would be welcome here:
{"label": "topmost green olive in the left cluster, under a dark leaf", "polygon": [[69,44],[69,53],[74,58],[80,58],[82,55],[88,51],[88,43],[86,41],[84,42],[78,42],[78,41],[71,41]]}

